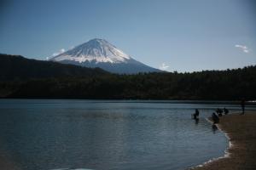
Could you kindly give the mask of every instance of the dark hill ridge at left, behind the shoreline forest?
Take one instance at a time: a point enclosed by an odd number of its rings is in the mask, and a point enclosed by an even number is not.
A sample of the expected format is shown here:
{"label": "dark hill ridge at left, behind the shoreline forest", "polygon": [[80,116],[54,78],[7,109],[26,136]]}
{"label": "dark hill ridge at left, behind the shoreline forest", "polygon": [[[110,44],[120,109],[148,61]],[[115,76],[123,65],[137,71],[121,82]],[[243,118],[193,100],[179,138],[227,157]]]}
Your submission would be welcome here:
{"label": "dark hill ridge at left, behind the shoreline forest", "polygon": [[108,72],[99,68],[62,65],[56,62],[26,59],[20,55],[0,54],[0,80],[84,77],[103,74],[108,74]]}

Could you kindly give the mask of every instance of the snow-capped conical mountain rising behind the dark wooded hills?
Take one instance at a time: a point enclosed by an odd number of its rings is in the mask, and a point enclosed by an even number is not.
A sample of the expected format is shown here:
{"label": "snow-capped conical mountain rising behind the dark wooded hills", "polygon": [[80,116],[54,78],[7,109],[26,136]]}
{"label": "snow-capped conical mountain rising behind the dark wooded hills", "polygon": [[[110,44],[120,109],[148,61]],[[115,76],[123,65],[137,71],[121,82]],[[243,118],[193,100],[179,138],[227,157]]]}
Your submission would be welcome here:
{"label": "snow-capped conical mountain rising behind the dark wooded hills", "polygon": [[158,69],[132,59],[130,55],[125,54],[108,41],[98,38],[58,54],[49,60],[90,68],[99,67],[105,71],[118,74],[160,72]]}

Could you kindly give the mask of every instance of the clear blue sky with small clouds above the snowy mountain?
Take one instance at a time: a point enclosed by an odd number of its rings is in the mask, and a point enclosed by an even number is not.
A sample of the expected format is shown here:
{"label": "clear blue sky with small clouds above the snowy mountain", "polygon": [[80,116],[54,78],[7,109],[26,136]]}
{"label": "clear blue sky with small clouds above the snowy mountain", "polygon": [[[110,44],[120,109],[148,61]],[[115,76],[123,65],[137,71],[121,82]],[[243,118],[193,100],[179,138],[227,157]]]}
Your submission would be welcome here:
{"label": "clear blue sky with small clouds above the snowy mountain", "polygon": [[98,37],[167,71],[256,65],[253,0],[0,0],[0,53],[46,59]]}

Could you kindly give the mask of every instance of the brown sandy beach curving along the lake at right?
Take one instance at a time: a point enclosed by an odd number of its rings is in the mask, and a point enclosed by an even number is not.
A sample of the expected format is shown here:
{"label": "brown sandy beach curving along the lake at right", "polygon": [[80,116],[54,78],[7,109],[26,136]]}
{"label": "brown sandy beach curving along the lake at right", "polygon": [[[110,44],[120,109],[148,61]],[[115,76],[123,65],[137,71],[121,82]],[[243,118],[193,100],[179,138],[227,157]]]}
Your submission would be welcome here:
{"label": "brown sandy beach curving along the lake at right", "polygon": [[230,156],[195,167],[196,170],[255,170],[256,169],[256,112],[245,115],[222,116],[218,127],[230,137]]}

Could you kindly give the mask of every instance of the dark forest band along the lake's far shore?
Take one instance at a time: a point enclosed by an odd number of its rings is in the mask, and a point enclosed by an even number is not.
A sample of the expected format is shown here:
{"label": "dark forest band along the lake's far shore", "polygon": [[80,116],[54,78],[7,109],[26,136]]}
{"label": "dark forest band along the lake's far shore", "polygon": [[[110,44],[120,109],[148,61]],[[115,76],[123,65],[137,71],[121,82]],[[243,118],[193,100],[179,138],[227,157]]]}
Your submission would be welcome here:
{"label": "dark forest band along the lake's far shore", "polygon": [[5,98],[44,99],[256,99],[256,66],[193,73],[102,73],[0,82]]}

